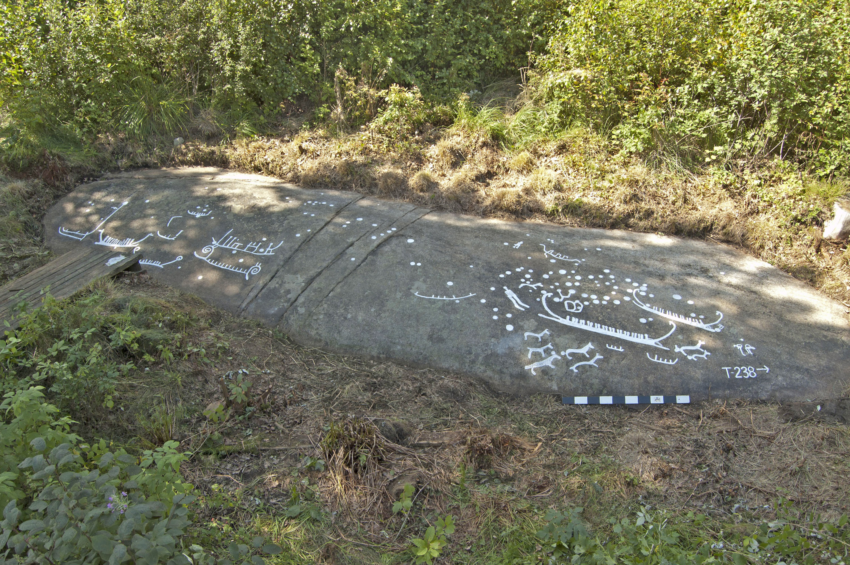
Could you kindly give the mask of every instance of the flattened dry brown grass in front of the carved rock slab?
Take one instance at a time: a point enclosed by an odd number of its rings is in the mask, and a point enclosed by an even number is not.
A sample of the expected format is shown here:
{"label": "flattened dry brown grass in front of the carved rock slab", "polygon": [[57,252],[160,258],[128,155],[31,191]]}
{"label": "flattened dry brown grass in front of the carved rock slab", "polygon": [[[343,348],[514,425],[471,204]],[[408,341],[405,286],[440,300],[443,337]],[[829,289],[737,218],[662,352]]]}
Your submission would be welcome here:
{"label": "flattened dry brown grass in front of the carved rock slab", "polygon": [[[125,411],[88,422],[87,433],[130,438],[144,406],[168,398],[184,410],[175,437],[198,454],[184,471],[202,492],[212,493],[213,483],[247,489],[269,510],[283,511],[293,486],[307,496],[305,484],[312,484],[348,539],[386,544],[382,531],[399,531],[403,544],[413,526],[392,504],[407,483],[416,488],[418,514],[456,512],[472,539],[481,519],[476,507],[492,506],[509,522],[518,504],[584,506],[592,523],[604,523],[638,496],[718,519],[734,510],[750,522],[770,517],[766,506],[779,496],[828,518],[850,505],[847,426],[789,421],[778,404],[564,406],[552,395],[495,393],[467,376],[299,347],[146,275],[122,275],[113,286],[113,294],[191,303],[210,322],[187,339],[219,335],[229,349],[214,367],[179,361],[180,385],[159,373],[148,374],[145,387],[128,385]],[[237,369],[250,371],[255,390],[271,389],[270,405],[214,425],[200,412],[221,400],[218,376]],[[326,460],[326,470],[304,469],[303,455]],[[468,498],[458,507],[462,483]]]}

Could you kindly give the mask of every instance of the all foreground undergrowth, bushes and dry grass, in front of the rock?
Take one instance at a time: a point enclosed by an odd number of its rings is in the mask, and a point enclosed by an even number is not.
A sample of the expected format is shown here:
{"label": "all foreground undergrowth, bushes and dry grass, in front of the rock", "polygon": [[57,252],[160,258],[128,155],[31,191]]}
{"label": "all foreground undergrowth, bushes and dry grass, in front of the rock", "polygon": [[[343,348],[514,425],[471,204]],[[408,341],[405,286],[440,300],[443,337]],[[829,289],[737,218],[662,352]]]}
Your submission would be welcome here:
{"label": "all foreground undergrowth, bushes and dry grass, in front of the rock", "polygon": [[847,562],[850,435],[775,405],[565,410],[306,350],[144,274],[48,298],[0,372],[8,563]]}

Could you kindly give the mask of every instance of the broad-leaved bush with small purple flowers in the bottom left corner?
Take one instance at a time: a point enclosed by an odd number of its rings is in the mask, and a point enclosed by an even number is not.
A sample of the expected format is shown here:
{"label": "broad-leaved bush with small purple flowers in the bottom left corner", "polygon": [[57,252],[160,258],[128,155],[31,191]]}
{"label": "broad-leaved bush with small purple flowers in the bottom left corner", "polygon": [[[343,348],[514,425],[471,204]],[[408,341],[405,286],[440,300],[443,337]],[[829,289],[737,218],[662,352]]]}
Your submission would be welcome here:
{"label": "broad-leaved bush with small purple flowers in the bottom left corner", "polygon": [[[171,444],[171,445],[169,445]],[[200,546],[185,552],[181,537],[190,525],[192,485],[179,476],[185,454],[176,442],[146,451],[140,460],[105,443],[81,446],[33,438],[34,455],[18,465],[26,497],[8,501],[3,510],[0,546],[8,547],[6,563],[145,563],[156,565],[232,565],[262,563],[261,554],[280,553],[280,546],[254,538],[252,547],[231,543],[232,559],[216,560]],[[26,508],[19,500],[31,498]]]}

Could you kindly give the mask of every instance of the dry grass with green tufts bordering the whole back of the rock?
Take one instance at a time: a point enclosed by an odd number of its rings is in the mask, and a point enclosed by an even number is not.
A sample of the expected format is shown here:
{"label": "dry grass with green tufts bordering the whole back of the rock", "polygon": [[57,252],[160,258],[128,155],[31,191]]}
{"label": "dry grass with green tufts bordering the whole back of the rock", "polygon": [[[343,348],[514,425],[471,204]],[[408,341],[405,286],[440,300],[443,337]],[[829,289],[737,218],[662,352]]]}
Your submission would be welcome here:
{"label": "dry grass with green tufts bordering the whole back of the rock", "polygon": [[[250,113],[211,108],[192,118],[188,141],[178,147],[170,137],[153,135],[141,143],[103,136],[87,167],[48,151],[31,168],[42,184],[22,181],[36,187],[27,189],[27,201],[41,204],[33,204],[33,213],[0,218],[0,229],[20,233],[40,219],[57,192],[100,167],[213,165],[476,216],[715,240],[850,303],[847,242],[821,237],[832,203],[850,194],[846,180],[814,178],[779,160],[700,167],[671,155],[642,160],[587,127],[541,132],[540,108],[500,92],[496,88],[485,105],[462,100],[448,127],[423,124],[395,137],[369,127],[354,133],[304,129],[306,115],[251,125]],[[243,121],[249,137],[238,137]],[[264,136],[254,135],[261,126]],[[7,189],[0,198],[16,191]]]}

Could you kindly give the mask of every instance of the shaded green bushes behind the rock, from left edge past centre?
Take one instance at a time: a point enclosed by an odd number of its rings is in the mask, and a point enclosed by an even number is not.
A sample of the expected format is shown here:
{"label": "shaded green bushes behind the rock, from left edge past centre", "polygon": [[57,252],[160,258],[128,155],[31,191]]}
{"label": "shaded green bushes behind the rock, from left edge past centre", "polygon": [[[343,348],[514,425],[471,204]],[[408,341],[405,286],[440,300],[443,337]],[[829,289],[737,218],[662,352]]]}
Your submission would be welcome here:
{"label": "shaded green bushes behind the rock, from left edge past centre", "polygon": [[[22,168],[42,149],[81,152],[103,133],[176,137],[211,111],[221,118],[211,131],[252,135],[282,103],[340,98],[340,80],[445,97],[524,65],[540,42],[538,3],[4,3],[0,156]],[[377,107],[365,106],[371,120]]]}

